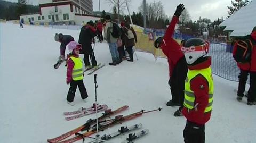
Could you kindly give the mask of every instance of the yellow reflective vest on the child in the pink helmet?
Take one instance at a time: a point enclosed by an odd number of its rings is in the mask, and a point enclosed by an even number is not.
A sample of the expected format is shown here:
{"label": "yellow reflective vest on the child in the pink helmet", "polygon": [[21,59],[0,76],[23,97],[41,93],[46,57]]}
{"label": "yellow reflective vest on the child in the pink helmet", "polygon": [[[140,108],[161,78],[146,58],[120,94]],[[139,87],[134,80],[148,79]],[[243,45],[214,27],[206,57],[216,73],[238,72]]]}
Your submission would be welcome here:
{"label": "yellow reflective vest on the child in the pink helmet", "polygon": [[82,60],[79,57],[70,56],[71,60],[74,62],[74,68],[72,71],[72,79],[74,81],[76,80],[82,80],[83,79],[83,64]]}

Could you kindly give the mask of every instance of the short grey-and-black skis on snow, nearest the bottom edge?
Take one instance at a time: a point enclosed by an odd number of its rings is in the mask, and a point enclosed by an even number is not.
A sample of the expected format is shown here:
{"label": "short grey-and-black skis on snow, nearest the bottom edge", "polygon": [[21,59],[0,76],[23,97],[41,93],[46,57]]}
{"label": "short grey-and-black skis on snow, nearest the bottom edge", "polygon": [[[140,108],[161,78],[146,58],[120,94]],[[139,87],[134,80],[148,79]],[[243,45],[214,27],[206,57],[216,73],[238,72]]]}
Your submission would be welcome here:
{"label": "short grey-and-black skis on snow, nearest the bottom edge", "polygon": [[[114,133],[111,133],[111,134],[104,134],[103,136],[100,137],[100,140],[95,138],[94,141],[91,141],[89,143],[102,143],[102,142],[105,142],[107,140],[113,139],[117,136],[120,136],[121,134],[130,132],[130,131],[133,131],[133,130],[140,129],[141,127],[142,127],[142,124],[135,124],[135,125],[132,125],[131,127],[122,126],[117,132],[114,132]],[[144,129],[144,130],[141,130],[137,133],[130,133],[128,135],[128,137],[126,138],[126,140],[124,140],[122,143],[132,142],[135,139],[138,139],[138,138],[146,135],[148,132],[149,132],[148,129]]]}

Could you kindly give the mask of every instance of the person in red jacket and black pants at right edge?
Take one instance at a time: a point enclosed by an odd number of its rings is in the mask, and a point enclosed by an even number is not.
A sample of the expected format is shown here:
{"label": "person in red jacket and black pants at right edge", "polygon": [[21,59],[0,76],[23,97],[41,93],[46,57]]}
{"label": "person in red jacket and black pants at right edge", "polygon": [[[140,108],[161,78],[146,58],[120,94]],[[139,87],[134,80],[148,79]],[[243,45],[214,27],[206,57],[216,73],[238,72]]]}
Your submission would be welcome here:
{"label": "person in red jacket and black pants at right edge", "polygon": [[[248,90],[247,105],[256,105],[256,27],[253,28],[251,35],[246,37],[250,39],[253,44],[251,53],[251,62],[248,63],[237,63],[240,68],[239,85],[237,91],[237,100],[242,101],[245,91],[245,85],[250,73],[250,88]],[[233,55],[237,50],[237,42],[234,45]]]}

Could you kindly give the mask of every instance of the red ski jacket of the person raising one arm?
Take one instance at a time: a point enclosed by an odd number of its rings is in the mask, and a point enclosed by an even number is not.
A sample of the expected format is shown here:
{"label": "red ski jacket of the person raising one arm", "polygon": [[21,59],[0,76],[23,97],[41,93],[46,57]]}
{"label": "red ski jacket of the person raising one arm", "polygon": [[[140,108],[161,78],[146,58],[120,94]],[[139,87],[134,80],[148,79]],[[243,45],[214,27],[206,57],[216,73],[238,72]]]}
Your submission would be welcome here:
{"label": "red ski jacket of the person raising one arm", "polygon": [[175,25],[178,23],[179,18],[177,16],[173,16],[172,20],[167,28],[163,42],[161,44],[161,49],[163,53],[168,58],[169,64],[169,76],[172,76],[172,72],[178,61],[184,56],[184,54],[180,51],[180,45],[175,41],[172,36],[174,33]]}

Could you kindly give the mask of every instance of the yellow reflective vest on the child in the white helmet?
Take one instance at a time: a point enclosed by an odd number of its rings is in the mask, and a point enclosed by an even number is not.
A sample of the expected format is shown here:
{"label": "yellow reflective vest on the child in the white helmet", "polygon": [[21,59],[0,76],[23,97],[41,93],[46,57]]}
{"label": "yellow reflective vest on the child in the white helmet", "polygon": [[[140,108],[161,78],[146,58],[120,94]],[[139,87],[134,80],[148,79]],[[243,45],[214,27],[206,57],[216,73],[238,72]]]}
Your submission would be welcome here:
{"label": "yellow reflective vest on the child in the white helmet", "polygon": [[190,110],[195,107],[195,94],[190,88],[190,81],[195,78],[198,74],[201,74],[208,82],[209,85],[209,100],[208,105],[204,110],[204,113],[212,110],[213,103],[213,79],[211,68],[200,69],[200,70],[188,70],[187,79],[185,83],[185,96],[184,96],[184,106]]}

